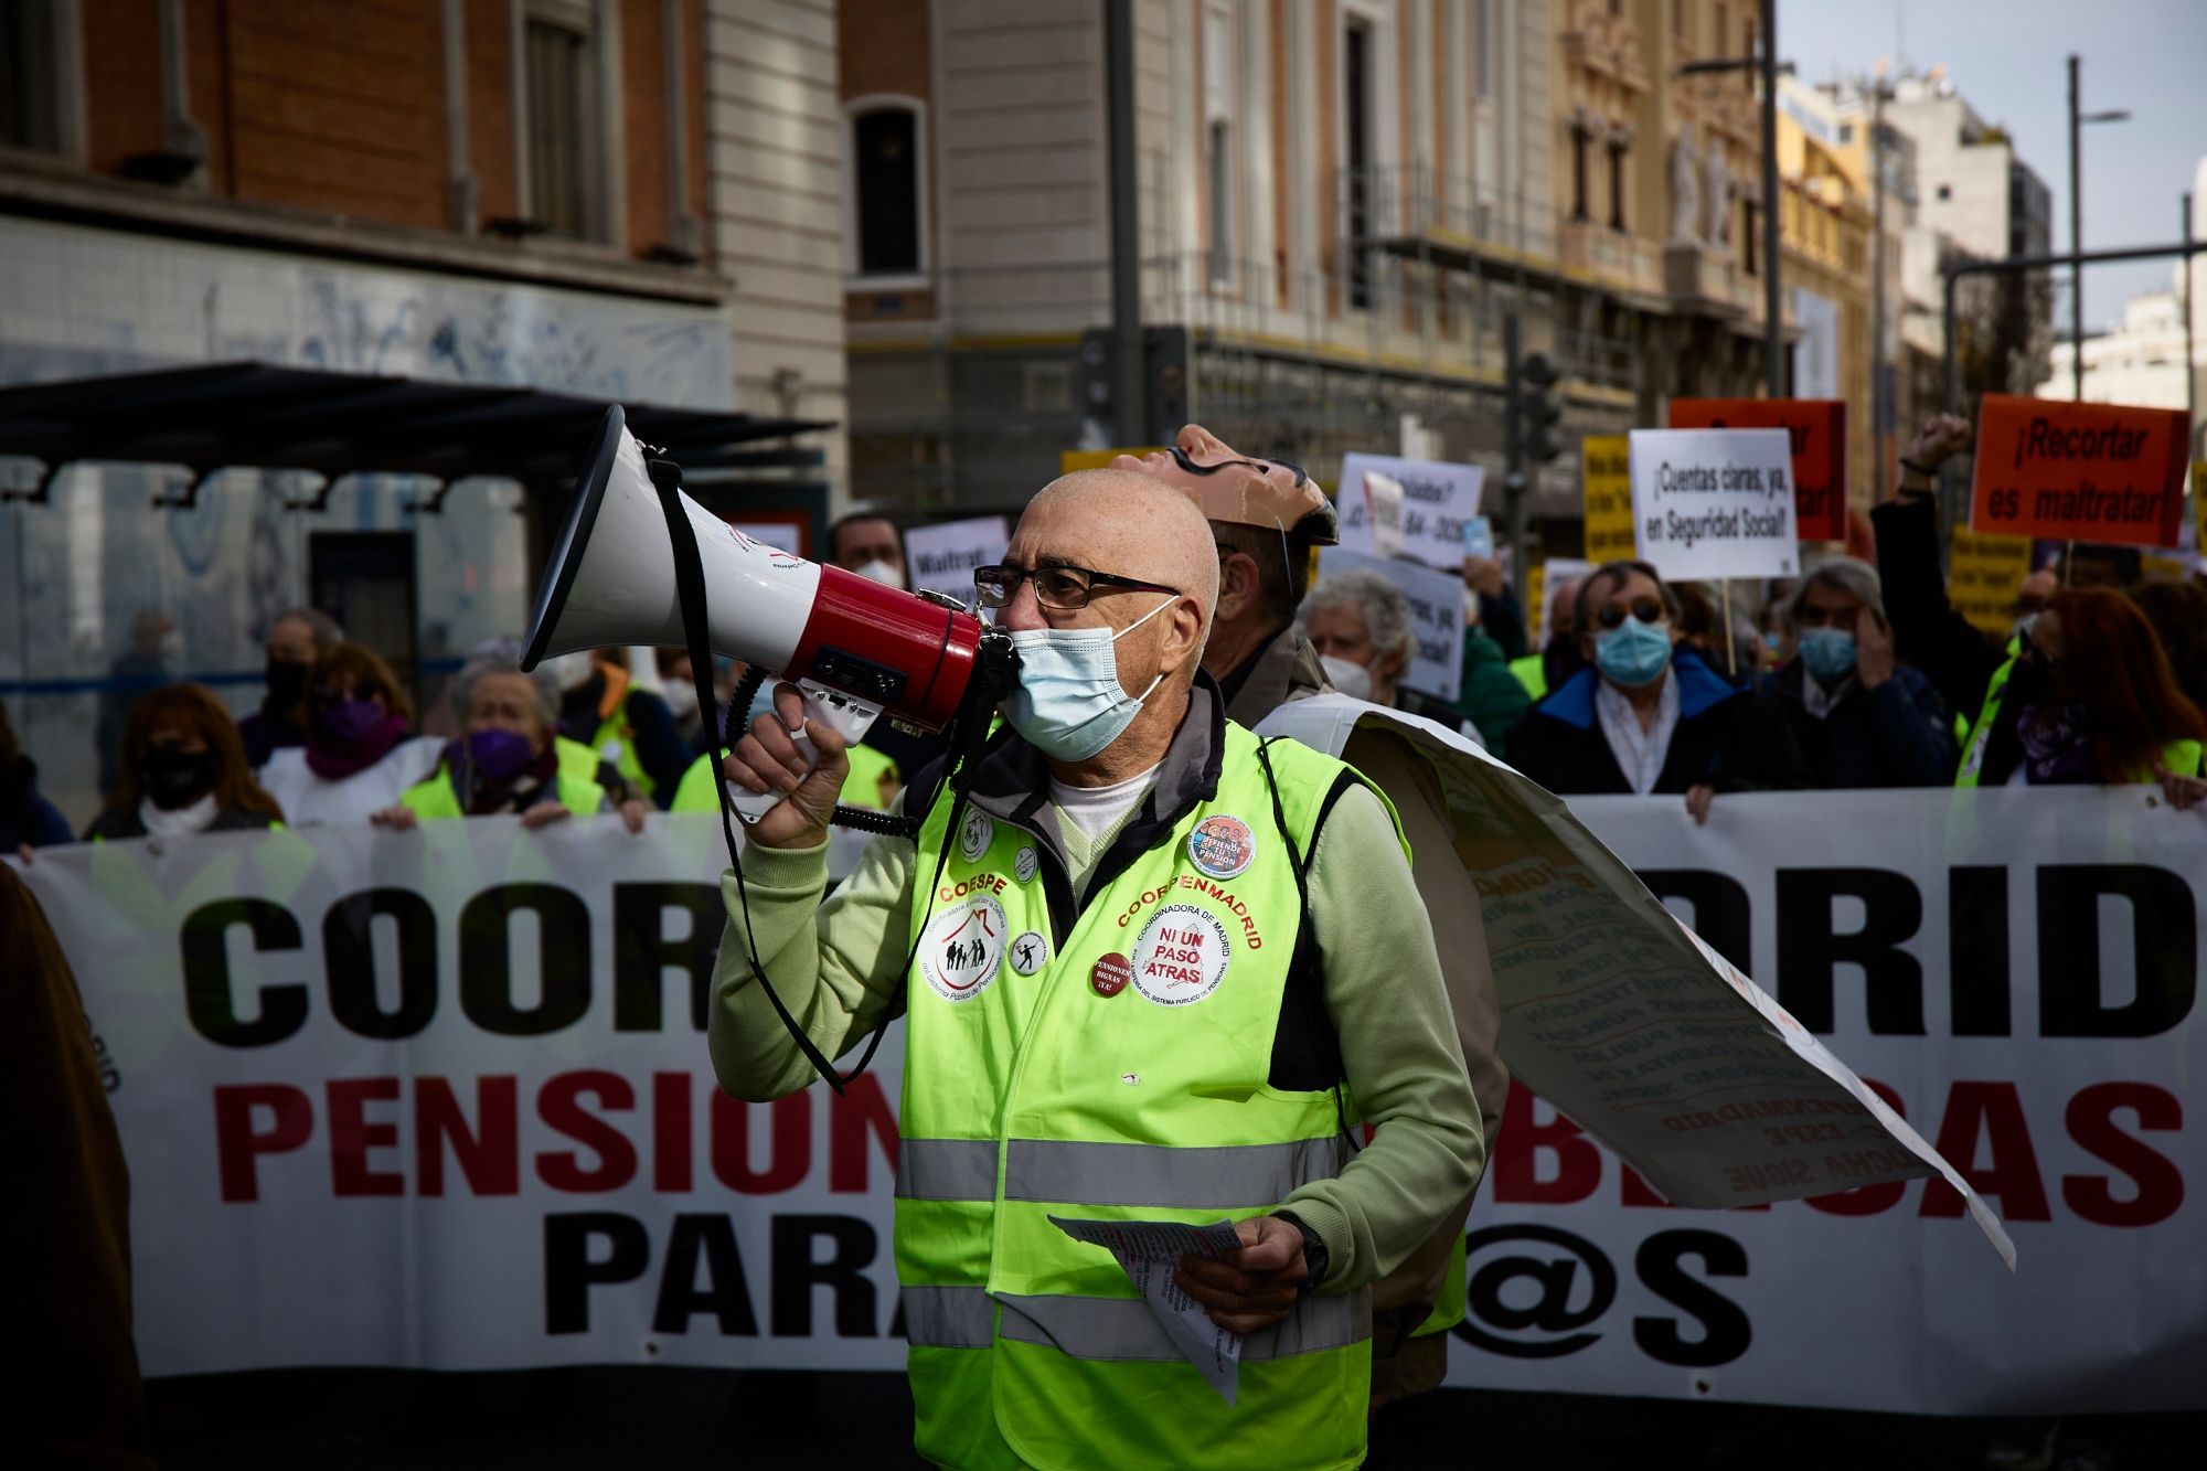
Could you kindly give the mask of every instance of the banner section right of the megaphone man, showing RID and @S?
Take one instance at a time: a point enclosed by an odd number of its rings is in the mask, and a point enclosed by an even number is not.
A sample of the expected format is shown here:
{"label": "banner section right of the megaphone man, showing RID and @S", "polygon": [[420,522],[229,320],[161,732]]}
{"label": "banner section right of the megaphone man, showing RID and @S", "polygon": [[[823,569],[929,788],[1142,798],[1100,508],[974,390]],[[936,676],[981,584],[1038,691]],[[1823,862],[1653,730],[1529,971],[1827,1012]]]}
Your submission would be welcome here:
{"label": "banner section right of the megaphone man, showing RID and @S", "polygon": [[[1668,1208],[1514,1091],[1450,1383],[1947,1416],[2207,1407],[2196,813],[2143,786],[1735,795],[1702,828],[1668,797],[1571,811],[1938,1144],[2019,1268],[1936,1179]],[[1761,1100],[1651,1111],[1684,1120],[1682,1144],[1710,1115],[1834,1149],[1832,1118]]]}

